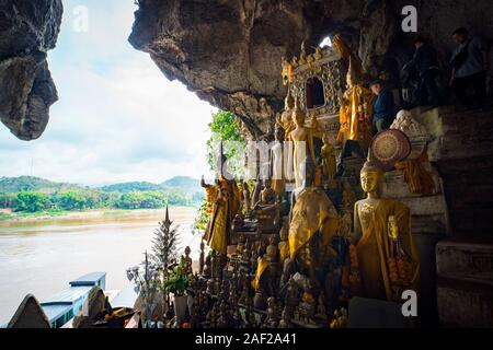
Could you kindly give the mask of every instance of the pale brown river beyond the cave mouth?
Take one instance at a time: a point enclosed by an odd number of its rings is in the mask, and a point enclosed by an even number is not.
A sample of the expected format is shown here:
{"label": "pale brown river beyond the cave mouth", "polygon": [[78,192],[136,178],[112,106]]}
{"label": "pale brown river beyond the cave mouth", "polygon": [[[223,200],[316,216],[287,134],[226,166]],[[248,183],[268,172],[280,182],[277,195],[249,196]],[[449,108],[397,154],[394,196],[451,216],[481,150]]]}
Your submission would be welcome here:
{"label": "pale brown river beyond the cave mouth", "polygon": [[[171,208],[180,225],[180,248],[188,245],[199,255],[199,237],[192,234],[193,208]],[[0,325],[5,324],[27,293],[39,301],[68,287],[88,272],[105,271],[106,290],[128,285],[126,269],[150,252],[153,232],[163,211],[137,215],[0,222]]]}

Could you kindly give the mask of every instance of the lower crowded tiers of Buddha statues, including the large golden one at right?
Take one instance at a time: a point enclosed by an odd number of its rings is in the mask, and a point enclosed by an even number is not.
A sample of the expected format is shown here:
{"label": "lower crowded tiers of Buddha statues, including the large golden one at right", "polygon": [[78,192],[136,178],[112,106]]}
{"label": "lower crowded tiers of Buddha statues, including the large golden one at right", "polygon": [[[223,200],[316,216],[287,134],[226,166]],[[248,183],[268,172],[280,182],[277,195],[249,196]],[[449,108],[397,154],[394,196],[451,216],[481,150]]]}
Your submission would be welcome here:
{"label": "lower crowded tiers of Buddha statues, including the large golden one at right", "polygon": [[[353,296],[399,302],[404,290],[417,291],[410,209],[379,197],[383,172],[369,154],[360,172],[367,197],[358,200],[349,182],[334,178],[336,205],[333,189],[320,185],[320,167],[307,158],[286,215],[271,180],[251,190],[246,182],[219,179],[214,196],[225,198],[211,203],[205,236],[210,252],[203,242],[199,273],[193,275],[192,327],[340,328],[347,326]],[[237,196],[238,202],[229,200]],[[236,232],[232,210],[237,219],[255,218],[256,230]]]}

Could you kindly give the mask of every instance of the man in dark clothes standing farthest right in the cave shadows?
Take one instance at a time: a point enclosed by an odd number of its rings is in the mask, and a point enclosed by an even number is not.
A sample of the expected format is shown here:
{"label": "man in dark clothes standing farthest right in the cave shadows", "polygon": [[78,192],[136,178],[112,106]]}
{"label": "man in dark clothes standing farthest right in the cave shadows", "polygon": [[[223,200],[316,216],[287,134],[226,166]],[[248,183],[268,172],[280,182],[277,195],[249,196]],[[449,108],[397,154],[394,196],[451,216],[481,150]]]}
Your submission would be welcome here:
{"label": "man in dark clothes standing farthest right in the cave shadows", "polygon": [[[471,38],[466,28],[454,31],[452,37],[458,44],[450,59],[450,85],[456,97],[465,109],[486,108],[486,73],[490,70],[486,45],[478,37]],[[469,89],[474,92],[472,98],[468,95]]]}

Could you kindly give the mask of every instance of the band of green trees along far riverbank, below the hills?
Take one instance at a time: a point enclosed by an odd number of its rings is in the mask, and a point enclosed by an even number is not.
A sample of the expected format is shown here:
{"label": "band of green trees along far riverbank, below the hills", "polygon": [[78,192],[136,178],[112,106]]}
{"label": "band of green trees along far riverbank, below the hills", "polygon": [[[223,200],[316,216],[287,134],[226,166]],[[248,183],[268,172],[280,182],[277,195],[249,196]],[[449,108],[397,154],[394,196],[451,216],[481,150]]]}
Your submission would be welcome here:
{"label": "band of green trees along far riverbank, below the hills", "polygon": [[55,192],[22,190],[0,192],[0,208],[14,211],[38,212],[47,210],[88,209],[159,209],[168,206],[198,207],[204,199],[202,192],[182,189],[135,190],[107,192],[96,189],[69,189]]}

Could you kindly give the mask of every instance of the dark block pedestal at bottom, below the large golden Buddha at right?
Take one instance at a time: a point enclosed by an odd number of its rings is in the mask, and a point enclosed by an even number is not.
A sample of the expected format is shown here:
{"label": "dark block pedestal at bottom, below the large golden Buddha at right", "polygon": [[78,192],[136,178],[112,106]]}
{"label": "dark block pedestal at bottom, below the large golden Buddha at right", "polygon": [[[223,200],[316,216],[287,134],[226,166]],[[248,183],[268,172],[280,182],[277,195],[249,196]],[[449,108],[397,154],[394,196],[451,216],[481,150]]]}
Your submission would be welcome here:
{"label": "dark block pedestal at bottom, below the large golden Buddha at right", "polygon": [[355,296],[349,301],[348,328],[413,328],[414,317],[404,317],[401,305]]}

